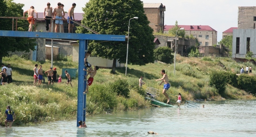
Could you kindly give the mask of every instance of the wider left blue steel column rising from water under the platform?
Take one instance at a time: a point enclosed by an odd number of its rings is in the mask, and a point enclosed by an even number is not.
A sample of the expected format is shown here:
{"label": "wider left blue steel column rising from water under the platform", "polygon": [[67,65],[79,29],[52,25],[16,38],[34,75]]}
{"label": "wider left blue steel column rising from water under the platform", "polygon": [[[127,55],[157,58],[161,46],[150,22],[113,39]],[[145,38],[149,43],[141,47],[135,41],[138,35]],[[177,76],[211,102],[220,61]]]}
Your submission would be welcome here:
{"label": "wider left blue steel column rising from water under the platform", "polygon": [[78,90],[77,90],[77,126],[78,121],[83,120],[83,92],[84,92],[84,51],[85,40],[79,40],[79,59],[78,59]]}

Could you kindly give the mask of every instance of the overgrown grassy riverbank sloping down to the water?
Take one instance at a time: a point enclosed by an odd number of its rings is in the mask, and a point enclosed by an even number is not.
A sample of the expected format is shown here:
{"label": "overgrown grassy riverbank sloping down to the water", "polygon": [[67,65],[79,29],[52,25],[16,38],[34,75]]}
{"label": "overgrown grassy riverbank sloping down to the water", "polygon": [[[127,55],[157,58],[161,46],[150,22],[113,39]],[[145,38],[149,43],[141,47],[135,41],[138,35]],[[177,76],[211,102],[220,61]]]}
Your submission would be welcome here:
{"label": "overgrown grassy riverbank sloping down to the water", "polygon": [[[94,77],[94,83],[89,88],[87,96],[87,115],[101,114],[106,112],[119,112],[136,110],[149,107],[150,103],[144,100],[143,89],[155,87],[162,90],[162,85],[155,82],[162,78],[161,69],[165,69],[171,83],[169,95],[182,93],[182,100],[225,100],[225,99],[255,99],[254,96],[231,85],[227,85],[225,93],[221,96],[216,89],[209,87],[209,73],[213,70],[231,71],[239,73],[239,68],[252,66],[255,76],[255,66],[252,63],[237,63],[229,58],[187,58],[177,56],[176,72],[173,75],[173,64],[150,63],[146,66],[128,65],[128,76],[125,77],[125,68],[117,68],[116,74],[110,73],[111,69],[99,69]],[[33,86],[34,64],[41,64],[46,71],[51,63],[34,62],[21,59],[17,56],[3,58],[3,63],[11,64],[13,69],[13,83],[0,86],[0,122],[4,122],[4,111],[7,105],[11,105],[16,113],[15,124],[29,124],[41,121],[53,121],[74,119],[77,109],[77,80],[72,80],[73,88],[65,84],[52,86],[45,84]],[[92,63],[93,64],[93,63]],[[54,67],[61,74],[61,68],[77,68],[78,64],[68,61],[54,62]],[[140,76],[144,77],[143,89],[138,87]],[[46,75],[44,75],[46,78]],[[64,77],[64,76],[63,76]],[[126,85],[118,87],[116,85]],[[116,89],[116,88],[119,89]],[[128,97],[118,95],[116,90],[126,91]],[[120,94],[120,93],[119,93]],[[160,94],[158,100],[167,101]]]}

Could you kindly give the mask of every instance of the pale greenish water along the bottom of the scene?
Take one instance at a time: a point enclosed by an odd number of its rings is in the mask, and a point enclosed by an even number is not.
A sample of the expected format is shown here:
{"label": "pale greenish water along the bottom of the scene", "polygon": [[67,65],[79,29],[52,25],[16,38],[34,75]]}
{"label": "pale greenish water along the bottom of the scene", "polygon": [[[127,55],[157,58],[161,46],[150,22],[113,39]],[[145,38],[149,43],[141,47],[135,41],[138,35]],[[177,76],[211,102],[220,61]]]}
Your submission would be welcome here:
{"label": "pale greenish water along the bottom of the scene", "polygon": [[[205,108],[202,108],[202,104]],[[256,100],[201,102],[201,108],[153,107],[76,121],[0,128],[1,137],[256,137]],[[148,134],[155,131],[158,135]]]}

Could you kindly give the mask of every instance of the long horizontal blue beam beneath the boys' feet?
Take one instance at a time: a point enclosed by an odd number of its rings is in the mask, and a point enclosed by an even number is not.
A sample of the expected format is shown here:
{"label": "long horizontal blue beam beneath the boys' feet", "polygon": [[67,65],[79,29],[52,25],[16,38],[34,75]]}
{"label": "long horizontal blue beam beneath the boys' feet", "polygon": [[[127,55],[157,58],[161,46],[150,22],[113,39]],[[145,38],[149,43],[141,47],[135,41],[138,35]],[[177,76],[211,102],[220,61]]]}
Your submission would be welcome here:
{"label": "long horizontal blue beam beneath the boys' feet", "polygon": [[81,34],[81,33],[54,33],[34,31],[0,31],[2,37],[33,37],[33,38],[54,38],[54,39],[84,39],[84,40],[106,40],[125,41],[125,35],[106,34]]}

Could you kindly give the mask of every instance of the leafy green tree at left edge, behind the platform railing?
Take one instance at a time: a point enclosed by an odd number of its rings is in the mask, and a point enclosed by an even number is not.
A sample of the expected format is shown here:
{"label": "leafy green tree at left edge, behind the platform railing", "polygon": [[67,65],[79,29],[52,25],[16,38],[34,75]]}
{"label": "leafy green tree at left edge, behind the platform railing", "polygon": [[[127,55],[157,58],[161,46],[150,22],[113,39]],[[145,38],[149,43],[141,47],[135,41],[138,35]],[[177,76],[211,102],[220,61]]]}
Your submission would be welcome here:
{"label": "leafy green tree at left edge, behind the platform railing", "polygon": [[[13,0],[0,0],[0,16],[1,17],[23,17],[22,7],[24,4],[14,3]],[[12,30],[12,19],[0,19],[0,30]],[[26,27],[23,25],[27,24]],[[18,19],[19,31],[27,30],[28,23],[24,19]],[[34,50],[35,39],[26,37],[0,37],[0,62],[2,57],[8,56],[9,52]]]}

